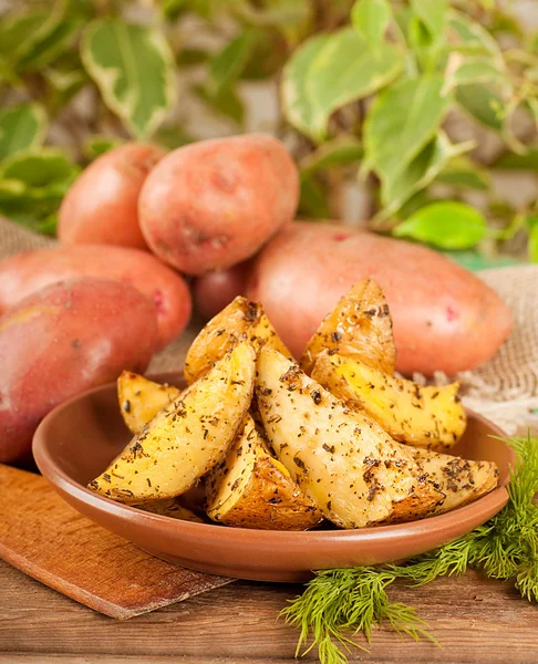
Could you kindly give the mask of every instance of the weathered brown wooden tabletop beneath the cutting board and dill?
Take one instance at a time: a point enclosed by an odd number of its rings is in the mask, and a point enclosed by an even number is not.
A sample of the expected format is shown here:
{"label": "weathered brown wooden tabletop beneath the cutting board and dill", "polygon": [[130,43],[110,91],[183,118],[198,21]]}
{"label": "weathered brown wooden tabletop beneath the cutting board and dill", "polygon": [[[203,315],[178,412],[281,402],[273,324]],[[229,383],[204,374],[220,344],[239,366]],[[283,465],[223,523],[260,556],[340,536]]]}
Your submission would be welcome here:
{"label": "weathered brown wooden tabletop beneath the cutting board and dill", "polygon": [[[293,660],[297,632],[276,618],[299,591],[238,581],[117,622],[0,561],[0,664],[282,664]],[[538,662],[538,608],[503,583],[473,572],[399,587],[392,596],[420,608],[443,649],[377,630],[371,652],[355,651],[350,662]]]}

